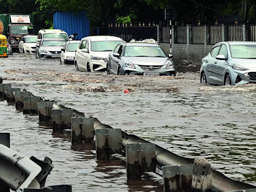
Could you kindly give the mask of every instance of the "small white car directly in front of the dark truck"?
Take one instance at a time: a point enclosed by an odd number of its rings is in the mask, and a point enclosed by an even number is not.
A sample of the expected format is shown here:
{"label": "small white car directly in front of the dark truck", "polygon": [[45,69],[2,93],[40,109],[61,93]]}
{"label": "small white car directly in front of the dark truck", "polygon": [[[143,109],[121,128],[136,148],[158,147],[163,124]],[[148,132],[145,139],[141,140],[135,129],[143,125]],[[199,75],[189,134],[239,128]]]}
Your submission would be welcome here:
{"label": "small white car directly in front of the dark truck", "polygon": [[36,35],[24,36],[18,44],[19,52],[23,53],[35,53],[35,43],[37,41]]}

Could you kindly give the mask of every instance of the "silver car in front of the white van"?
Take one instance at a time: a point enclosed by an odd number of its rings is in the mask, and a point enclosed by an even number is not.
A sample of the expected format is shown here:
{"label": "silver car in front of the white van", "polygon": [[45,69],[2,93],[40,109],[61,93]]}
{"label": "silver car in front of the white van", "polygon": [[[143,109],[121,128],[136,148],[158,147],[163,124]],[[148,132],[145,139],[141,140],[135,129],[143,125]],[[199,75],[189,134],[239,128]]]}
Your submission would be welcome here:
{"label": "silver car in front of the white van", "polygon": [[65,42],[62,38],[42,38],[36,43],[35,58],[60,58]]}

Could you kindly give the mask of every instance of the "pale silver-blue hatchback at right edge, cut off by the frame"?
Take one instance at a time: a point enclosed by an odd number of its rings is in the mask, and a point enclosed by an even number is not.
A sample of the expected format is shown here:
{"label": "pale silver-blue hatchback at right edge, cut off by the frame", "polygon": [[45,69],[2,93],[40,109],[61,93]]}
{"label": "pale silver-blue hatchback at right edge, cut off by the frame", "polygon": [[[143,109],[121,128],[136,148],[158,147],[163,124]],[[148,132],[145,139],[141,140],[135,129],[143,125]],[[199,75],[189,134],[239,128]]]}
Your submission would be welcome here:
{"label": "pale silver-blue hatchback at right edge, cut off by the frame", "polygon": [[256,42],[215,44],[202,58],[200,82],[215,85],[256,82]]}

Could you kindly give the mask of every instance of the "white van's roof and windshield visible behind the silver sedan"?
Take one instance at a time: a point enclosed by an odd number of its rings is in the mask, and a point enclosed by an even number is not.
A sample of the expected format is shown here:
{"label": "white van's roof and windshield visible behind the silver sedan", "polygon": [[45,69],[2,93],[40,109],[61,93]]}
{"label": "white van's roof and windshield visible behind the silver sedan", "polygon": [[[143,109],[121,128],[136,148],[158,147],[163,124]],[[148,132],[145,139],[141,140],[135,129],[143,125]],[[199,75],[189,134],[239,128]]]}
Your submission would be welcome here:
{"label": "white van's roof and windshield visible behind the silver sedan", "polygon": [[63,38],[68,41],[67,33],[61,29],[41,29],[37,35],[37,41],[40,41],[42,38]]}

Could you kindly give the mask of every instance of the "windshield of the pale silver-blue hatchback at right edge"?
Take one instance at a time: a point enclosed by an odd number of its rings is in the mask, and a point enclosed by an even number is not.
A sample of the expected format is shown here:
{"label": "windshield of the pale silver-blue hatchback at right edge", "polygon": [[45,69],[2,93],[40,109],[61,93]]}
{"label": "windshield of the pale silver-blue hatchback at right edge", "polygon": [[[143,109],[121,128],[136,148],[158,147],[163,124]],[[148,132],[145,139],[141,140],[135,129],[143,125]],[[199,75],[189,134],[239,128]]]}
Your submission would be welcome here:
{"label": "windshield of the pale silver-blue hatchback at right edge", "polygon": [[256,58],[256,44],[230,45],[233,58]]}

